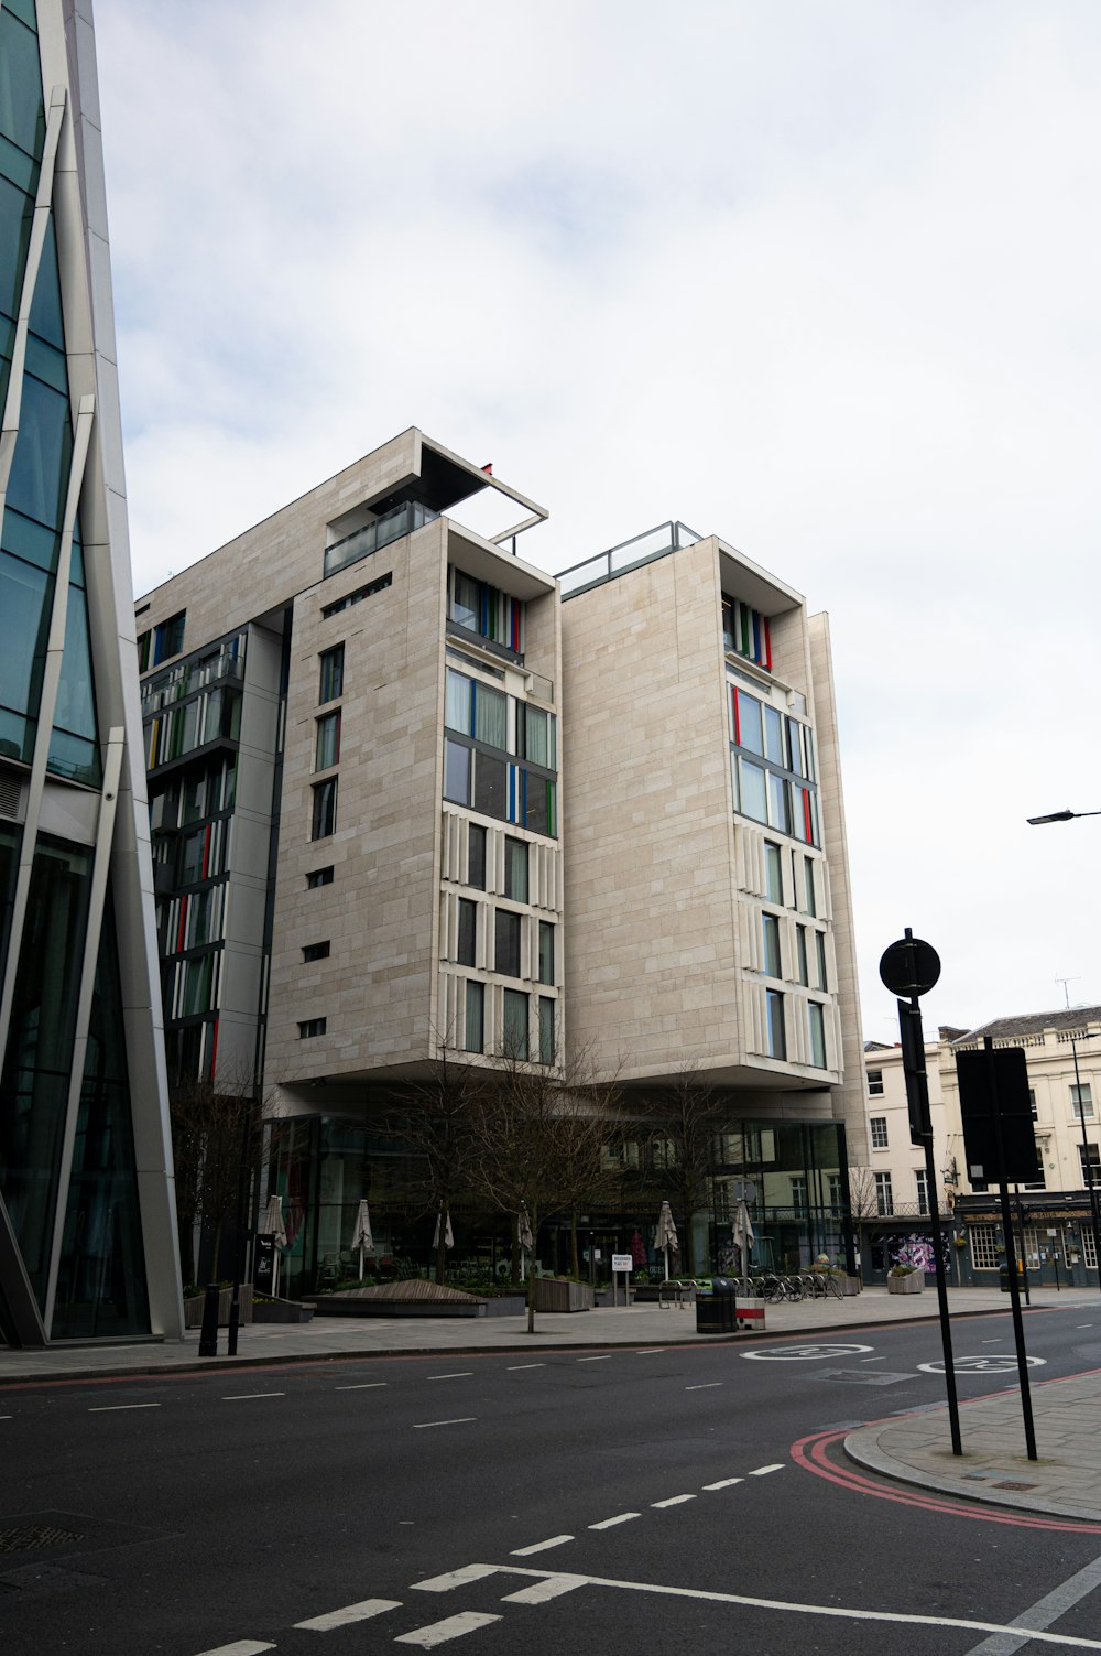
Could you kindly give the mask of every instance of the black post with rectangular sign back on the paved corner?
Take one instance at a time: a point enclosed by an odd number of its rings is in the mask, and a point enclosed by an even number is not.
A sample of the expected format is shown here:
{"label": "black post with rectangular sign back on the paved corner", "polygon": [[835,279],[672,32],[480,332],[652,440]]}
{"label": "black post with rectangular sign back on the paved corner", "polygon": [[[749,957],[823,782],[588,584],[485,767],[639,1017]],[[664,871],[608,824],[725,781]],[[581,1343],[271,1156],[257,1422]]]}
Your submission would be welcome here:
{"label": "black post with rectangular sign back on the paved corner", "polygon": [[1010,1184],[1030,1182],[1036,1177],[1036,1134],[1031,1124],[1028,1098],[1028,1061],[1020,1047],[998,1047],[983,1035],[982,1052],[957,1052],[955,1073],[960,1083],[960,1116],[964,1118],[964,1149],[972,1179],[993,1179],[1002,1204],[1002,1237],[1008,1265],[1010,1308],[1013,1312],[1013,1345],[1017,1346],[1017,1373],[1022,1388],[1022,1414],[1025,1418],[1025,1447],[1028,1459],[1036,1459],[1036,1432],[1031,1419],[1031,1389],[1028,1384],[1028,1356],[1025,1353],[1025,1325],[1022,1321],[1022,1297],[1017,1278],[1017,1245],[1013,1242],[1013,1216],[1010,1212]]}

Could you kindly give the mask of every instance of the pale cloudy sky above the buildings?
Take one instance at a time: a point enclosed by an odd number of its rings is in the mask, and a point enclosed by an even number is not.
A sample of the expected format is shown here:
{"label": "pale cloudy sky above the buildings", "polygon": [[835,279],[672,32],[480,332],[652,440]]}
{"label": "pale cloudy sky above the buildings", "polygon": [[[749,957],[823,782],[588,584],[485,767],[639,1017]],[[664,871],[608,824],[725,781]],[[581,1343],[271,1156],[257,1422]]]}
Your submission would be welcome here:
{"label": "pale cloudy sky above the buildings", "polygon": [[[829,614],[866,1040],[1101,1002],[1094,0],[96,0],[134,590],[409,426]],[[462,508],[455,513],[460,520]],[[1079,763],[1081,760],[1081,763]]]}

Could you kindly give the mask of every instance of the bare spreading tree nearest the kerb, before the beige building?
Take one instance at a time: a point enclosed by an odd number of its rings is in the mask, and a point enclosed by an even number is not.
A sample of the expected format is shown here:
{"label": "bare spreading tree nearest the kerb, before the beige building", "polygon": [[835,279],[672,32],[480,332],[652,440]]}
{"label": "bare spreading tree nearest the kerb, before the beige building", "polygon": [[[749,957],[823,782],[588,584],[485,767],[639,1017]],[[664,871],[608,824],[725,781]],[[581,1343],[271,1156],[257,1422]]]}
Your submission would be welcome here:
{"label": "bare spreading tree nearest the kerb, before the beige building", "polygon": [[[573,1073],[571,1073],[573,1071]],[[531,1235],[578,1192],[601,1181],[608,1139],[599,1095],[588,1096],[575,1066],[505,1057],[483,1070],[474,1116],[475,1182],[507,1214],[526,1209]],[[528,1333],[535,1333],[535,1283],[528,1278]]]}

